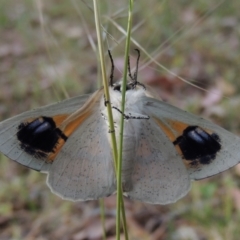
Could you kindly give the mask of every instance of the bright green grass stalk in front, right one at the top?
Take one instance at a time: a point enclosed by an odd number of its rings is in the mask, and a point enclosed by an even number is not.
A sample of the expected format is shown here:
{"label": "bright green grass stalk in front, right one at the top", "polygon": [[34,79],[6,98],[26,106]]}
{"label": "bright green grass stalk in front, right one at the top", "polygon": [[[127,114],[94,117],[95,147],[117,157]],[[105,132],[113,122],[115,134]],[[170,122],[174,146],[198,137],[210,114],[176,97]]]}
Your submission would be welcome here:
{"label": "bright green grass stalk in front, right one at the top", "polygon": [[[123,72],[123,82],[122,82],[121,111],[123,113],[124,113],[124,109],[125,109],[125,96],[126,96],[127,73],[128,73],[128,56],[129,56],[129,49],[130,49],[130,42],[131,42],[132,17],[133,17],[133,0],[129,0],[127,38],[126,38],[126,45],[125,45],[124,72]],[[118,167],[117,167],[116,236],[119,236],[119,237],[116,237],[117,240],[120,240],[120,209],[121,209],[121,205],[123,203],[123,199],[122,199],[122,177],[121,177],[121,174],[122,174],[123,131],[124,131],[124,116],[122,115],[121,122],[120,122]]]}

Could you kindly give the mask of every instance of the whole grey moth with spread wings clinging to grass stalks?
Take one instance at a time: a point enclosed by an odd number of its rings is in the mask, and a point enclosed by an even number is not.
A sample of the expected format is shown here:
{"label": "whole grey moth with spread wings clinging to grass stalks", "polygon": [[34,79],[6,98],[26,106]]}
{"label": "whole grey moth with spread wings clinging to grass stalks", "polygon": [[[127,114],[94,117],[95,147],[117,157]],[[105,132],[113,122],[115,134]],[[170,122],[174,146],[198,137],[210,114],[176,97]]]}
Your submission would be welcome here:
{"label": "whole grey moth with spread wings clinging to grass stalks", "polygon": [[137,81],[137,70],[134,76],[129,71],[122,113],[122,84],[113,83],[113,69],[112,61],[111,102],[106,103],[100,88],[91,95],[7,119],[0,123],[0,151],[46,173],[51,191],[64,199],[107,197],[116,192],[106,110],[110,104],[116,135],[122,115],[125,118],[122,187],[130,199],[172,203],[187,194],[191,180],[210,177],[239,163],[239,137],[155,99]]}

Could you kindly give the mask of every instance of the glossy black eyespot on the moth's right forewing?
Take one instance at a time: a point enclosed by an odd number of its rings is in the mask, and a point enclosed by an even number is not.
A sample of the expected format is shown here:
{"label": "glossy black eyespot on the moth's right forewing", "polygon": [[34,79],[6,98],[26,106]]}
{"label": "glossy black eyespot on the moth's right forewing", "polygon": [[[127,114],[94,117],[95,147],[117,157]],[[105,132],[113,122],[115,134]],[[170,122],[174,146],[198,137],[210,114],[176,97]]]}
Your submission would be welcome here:
{"label": "glossy black eyespot on the moth's right forewing", "polygon": [[221,149],[216,133],[209,134],[197,126],[187,127],[173,144],[179,146],[183,158],[192,161],[192,165],[209,164]]}

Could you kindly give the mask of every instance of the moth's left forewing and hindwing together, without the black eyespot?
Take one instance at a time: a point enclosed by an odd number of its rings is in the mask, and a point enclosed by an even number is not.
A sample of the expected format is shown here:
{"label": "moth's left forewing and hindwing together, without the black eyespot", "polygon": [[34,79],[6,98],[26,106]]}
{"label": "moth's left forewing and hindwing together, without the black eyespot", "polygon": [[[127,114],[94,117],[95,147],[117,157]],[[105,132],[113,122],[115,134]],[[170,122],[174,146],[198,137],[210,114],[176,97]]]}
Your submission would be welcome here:
{"label": "moth's left forewing and hindwing together, without the black eyespot", "polygon": [[[100,109],[102,93],[68,99],[0,123],[0,151],[22,165],[47,172],[48,186],[63,198],[90,200],[112,194],[116,188],[108,127]],[[41,116],[55,119],[56,127],[67,136],[61,148],[56,146],[51,161],[27,153],[17,139],[19,124]],[[65,123],[67,117],[71,120]]]}

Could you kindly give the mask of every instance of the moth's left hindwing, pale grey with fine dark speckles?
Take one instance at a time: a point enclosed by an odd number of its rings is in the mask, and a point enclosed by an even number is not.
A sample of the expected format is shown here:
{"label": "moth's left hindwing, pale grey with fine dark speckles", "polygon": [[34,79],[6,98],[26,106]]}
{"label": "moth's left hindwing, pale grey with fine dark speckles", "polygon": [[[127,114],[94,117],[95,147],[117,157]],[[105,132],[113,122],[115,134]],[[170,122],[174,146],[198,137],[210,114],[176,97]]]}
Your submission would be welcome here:
{"label": "moth's left hindwing, pale grey with fine dark speckles", "polygon": [[108,127],[100,111],[71,135],[52,164],[47,183],[64,199],[85,201],[116,190]]}

